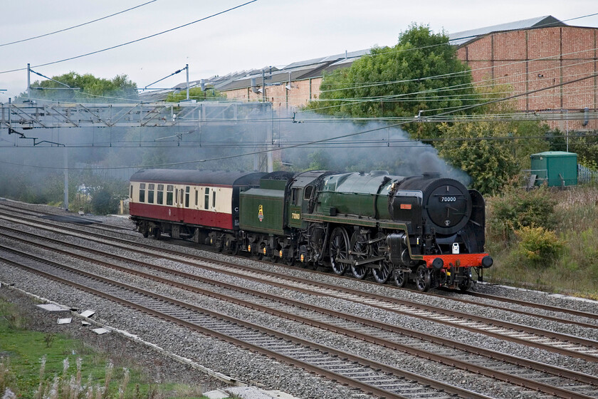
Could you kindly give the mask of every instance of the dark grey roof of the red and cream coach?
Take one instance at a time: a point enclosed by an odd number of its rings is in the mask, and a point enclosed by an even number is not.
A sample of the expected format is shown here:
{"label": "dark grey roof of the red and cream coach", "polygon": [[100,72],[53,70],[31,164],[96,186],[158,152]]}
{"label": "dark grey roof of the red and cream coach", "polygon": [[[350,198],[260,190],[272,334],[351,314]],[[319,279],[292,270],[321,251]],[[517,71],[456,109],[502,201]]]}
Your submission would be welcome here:
{"label": "dark grey roof of the red and cream coach", "polygon": [[222,170],[143,169],[131,176],[132,182],[182,183],[196,185],[258,185],[264,172]]}

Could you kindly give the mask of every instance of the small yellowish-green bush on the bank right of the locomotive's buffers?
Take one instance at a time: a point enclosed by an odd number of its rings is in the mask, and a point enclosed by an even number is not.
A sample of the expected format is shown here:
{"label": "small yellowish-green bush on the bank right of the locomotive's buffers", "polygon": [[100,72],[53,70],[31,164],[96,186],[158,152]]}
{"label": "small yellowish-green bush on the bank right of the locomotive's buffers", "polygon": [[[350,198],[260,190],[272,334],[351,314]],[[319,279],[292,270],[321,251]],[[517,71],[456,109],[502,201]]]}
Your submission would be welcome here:
{"label": "small yellowish-green bush on the bank right of the locomotive's buffers", "polygon": [[524,226],[515,232],[520,260],[534,266],[552,266],[565,252],[565,242],[544,227]]}

